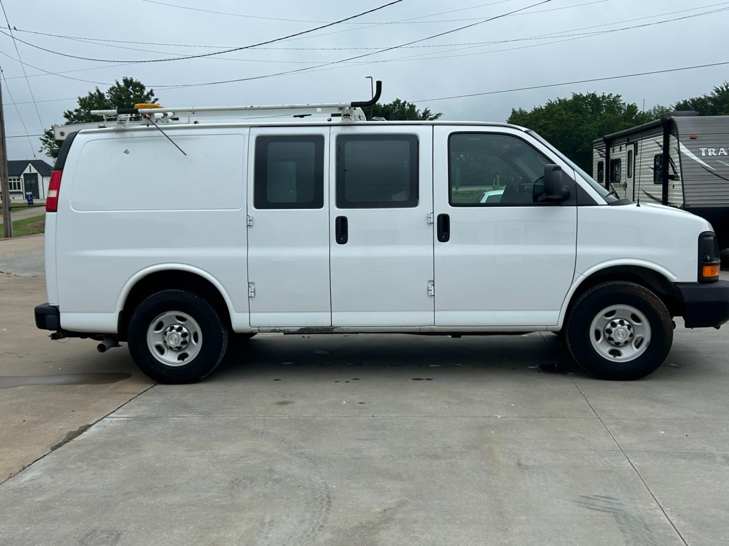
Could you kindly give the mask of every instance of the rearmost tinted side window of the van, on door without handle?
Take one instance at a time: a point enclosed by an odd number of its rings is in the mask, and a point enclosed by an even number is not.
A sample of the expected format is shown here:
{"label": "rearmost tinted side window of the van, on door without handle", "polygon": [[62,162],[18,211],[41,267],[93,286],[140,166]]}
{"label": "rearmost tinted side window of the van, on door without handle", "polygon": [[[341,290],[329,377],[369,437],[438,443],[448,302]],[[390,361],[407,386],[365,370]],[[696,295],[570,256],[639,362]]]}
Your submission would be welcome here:
{"label": "rearmost tinted side window of the van, on door without handle", "polygon": [[324,137],[256,138],[253,201],[257,209],[324,206]]}

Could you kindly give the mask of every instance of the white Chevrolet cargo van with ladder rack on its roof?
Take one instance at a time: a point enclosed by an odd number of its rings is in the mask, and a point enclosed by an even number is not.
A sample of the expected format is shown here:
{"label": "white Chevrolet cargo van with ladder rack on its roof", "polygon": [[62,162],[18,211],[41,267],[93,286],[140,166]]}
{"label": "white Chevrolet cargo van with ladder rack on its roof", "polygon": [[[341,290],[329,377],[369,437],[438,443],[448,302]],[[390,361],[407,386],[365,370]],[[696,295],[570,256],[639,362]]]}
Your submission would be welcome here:
{"label": "white Chevrolet cargo van with ladder rack on its roof", "polygon": [[671,317],[729,320],[703,218],[618,200],[523,127],[366,122],[370,102],[57,127],[36,325],[126,341],[183,383],[264,332],[552,331],[590,373],[636,379]]}

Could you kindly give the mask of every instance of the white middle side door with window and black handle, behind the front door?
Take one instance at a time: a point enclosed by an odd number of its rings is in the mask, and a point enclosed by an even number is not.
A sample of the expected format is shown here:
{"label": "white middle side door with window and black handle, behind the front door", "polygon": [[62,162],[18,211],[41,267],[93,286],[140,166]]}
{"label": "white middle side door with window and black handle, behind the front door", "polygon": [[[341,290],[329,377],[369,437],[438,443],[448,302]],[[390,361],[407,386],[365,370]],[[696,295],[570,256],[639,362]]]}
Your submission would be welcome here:
{"label": "white middle side door with window and black handle, behind the front door", "polygon": [[332,127],[332,325],[433,325],[432,131]]}

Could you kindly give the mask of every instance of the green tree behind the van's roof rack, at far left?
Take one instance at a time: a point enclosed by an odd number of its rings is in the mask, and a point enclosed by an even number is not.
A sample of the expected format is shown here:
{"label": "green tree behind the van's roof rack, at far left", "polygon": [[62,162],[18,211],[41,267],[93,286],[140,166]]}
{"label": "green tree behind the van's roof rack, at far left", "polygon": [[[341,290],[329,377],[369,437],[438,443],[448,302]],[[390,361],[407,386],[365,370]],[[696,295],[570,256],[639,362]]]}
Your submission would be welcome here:
{"label": "green tree behind the van's roof rack, at far left", "polygon": [[[66,119],[64,125],[72,123],[90,123],[98,122],[99,116],[92,116],[92,110],[109,110],[112,108],[131,108],[137,103],[157,103],[155,91],[144,86],[137,79],[123,77],[122,82],[115,80],[114,85],[109,87],[106,92],[101,92],[98,87],[89,91],[85,97],[79,97],[79,106],[73,110],[63,112],[63,118]],[[53,138],[53,128],[44,131],[41,137],[41,149],[50,157],[58,157],[58,151],[61,149],[61,141]]]}

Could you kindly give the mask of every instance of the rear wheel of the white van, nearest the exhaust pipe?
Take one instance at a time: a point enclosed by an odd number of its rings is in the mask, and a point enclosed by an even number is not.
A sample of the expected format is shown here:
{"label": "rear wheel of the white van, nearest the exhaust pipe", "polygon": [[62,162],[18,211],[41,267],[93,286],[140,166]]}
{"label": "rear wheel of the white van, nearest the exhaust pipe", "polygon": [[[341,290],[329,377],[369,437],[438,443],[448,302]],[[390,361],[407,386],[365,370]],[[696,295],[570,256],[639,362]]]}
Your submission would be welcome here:
{"label": "rear wheel of the white van, nearest the exhaust pipe", "polygon": [[160,383],[194,383],[225,355],[228,329],[208,301],[186,290],[163,290],[139,304],[128,328],[129,352]]}

